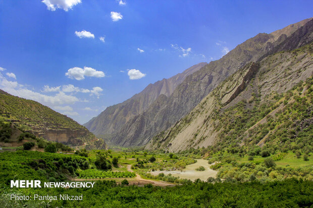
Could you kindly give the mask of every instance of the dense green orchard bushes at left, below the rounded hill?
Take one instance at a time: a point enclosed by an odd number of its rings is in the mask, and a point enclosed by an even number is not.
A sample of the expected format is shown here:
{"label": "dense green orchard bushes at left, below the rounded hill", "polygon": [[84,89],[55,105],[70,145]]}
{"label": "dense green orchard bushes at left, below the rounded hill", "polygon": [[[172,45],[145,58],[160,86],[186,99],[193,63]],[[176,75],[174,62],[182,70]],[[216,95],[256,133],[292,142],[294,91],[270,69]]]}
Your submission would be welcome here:
{"label": "dense green orchard bushes at left, below the rounded hill", "polygon": [[89,160],[80,156],[17,151],[0,153],[0,182],[10,180],[66,180],[75,177],[77,169],[84,169]]}

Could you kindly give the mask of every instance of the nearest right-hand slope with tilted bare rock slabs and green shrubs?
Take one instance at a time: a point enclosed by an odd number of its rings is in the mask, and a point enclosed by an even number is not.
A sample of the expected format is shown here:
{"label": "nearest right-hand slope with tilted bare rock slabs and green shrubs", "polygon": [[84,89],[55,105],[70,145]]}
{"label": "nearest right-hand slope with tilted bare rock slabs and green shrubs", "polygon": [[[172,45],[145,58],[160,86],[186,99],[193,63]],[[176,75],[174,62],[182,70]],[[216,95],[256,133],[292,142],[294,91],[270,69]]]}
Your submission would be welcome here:
{"label": "nearest right-hand slope with tilted bare rock slabs and green shrubs", "polygon": [[[219,150],[279,145],[283,137],[295,138],[304,128],[311,132],[312,76],[313,43],[249,63],[172,128],[154,136],[146,148],[178,152],[212,145]],[[309,144],[306,134],[299,141]]]}

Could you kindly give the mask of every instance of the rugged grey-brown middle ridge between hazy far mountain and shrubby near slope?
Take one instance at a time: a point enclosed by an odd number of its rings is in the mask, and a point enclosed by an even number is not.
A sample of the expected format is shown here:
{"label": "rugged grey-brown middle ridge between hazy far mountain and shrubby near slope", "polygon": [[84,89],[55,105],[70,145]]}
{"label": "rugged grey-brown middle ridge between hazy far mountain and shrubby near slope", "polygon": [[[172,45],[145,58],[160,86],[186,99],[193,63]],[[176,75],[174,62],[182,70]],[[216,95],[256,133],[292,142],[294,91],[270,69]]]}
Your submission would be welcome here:
{"label": "rugged grey-brown middle ridge between hazy far mountain and shrubby near slope", "polygon": [[307,19],[271,34],[260,33],[238,45],[221,59],[206,64],[201,70],[188,76],[171,96],[160,96],[142,114],[129,120],[115,134],[113,144],[147,144],[156,132],[166,130],[185,116],[208,93],[248,62],[310,42],[312,24],[313,20]]}

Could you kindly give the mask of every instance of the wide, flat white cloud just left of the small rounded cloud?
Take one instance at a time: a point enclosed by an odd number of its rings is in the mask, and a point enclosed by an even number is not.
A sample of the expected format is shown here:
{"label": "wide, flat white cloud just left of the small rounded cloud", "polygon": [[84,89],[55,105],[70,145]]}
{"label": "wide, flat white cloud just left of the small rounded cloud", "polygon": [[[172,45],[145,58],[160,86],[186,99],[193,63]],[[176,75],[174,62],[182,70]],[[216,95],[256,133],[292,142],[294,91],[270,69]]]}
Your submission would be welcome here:
{"label": "wide, flat white cloud just left of the small rounded cloud", "polygon": [[65,73],[66,76],[68,76],[71,79],[76,79],[76,80],[83,80],[86,77],[96,77],[96,78],[101,78],[105,77],[105,73],[101,71],[96,71],[94,68],[91,67],[86,67],[80,68],[80,67],[73,67],[68,70],[67,73]]}

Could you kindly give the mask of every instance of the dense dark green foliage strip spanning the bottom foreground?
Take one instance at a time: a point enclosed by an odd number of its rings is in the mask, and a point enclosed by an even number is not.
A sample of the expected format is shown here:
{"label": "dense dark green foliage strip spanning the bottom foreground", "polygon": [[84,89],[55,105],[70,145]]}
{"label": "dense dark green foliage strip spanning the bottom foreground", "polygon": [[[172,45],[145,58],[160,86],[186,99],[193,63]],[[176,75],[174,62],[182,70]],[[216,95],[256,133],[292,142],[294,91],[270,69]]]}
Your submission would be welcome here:
{"label": "dense dark green foliage strip spanning the bottom foreground", "polygon": [[[83,194],[82,201],[46,201],[51,207],[309,207],[313,204],[313,182],[295,179],[269,183],[212,184],[196,181],[188,185],[167,188],[125,185],[117,185],[114,181],[97,181],[94,188],[89,189],[2,189],[2,192],[41,195]],[[8,198],[3,194],[0,206],[7,201]],[[39,201],[36,202],[39,204]],[[34,202],[18,201],[18,203],[15,207]]]}

